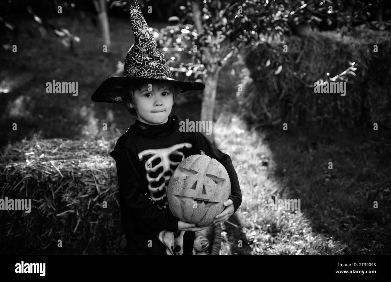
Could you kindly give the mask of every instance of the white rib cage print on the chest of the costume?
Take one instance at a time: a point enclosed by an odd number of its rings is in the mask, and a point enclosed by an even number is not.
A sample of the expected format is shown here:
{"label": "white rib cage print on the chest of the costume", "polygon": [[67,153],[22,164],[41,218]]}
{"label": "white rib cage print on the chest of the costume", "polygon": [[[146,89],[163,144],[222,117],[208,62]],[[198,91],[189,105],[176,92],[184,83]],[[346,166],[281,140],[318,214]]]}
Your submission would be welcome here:
{"label": "white rib cage print on the chest of the costume", "polygon": [[[185,147],[191,148],[192,144],[180,143],[164,149],[147,149],[138,154],[140,161],[147,158],[144,167],[147,172],[149,197],[163,211],[169,211],[167,186],[175,168],[185,159],[185,155],[179,151]],[[176,160],[171,160],[170,156]]]}

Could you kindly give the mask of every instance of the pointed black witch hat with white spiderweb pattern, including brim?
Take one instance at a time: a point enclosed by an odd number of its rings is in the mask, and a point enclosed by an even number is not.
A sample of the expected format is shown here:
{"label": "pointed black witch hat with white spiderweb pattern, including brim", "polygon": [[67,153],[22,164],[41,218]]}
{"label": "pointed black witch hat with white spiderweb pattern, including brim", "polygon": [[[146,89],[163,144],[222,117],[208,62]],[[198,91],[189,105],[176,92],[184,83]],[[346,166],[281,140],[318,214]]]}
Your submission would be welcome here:
{"label": "pointed black witch hat with white spiderweb pattern, including brim", "polygon": [[137,0],[130,1],[130,19],[136,39],[135,44],[127,51],[124,76],[113,76],[104,80],[92,94],[92,101],[121,103],[122,88],[132,84],[173,82],[177,85],[179,92],[205,88],[201,82],[172,78],[170,67],[149,31]]}

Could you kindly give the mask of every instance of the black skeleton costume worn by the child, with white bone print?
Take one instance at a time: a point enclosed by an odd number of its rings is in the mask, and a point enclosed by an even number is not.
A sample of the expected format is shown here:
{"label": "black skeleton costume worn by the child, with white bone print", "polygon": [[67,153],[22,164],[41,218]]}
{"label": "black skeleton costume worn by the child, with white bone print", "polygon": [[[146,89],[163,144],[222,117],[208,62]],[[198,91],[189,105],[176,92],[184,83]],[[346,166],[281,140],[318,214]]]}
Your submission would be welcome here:
{"label": "black skeleton costume worn by the child, with white bone print", "polygon": [[178,218],[170,212],[166,191],[179,163],[200,150],[226,168],[235,212],[242,202],[230,156],[213,147],[201,132],[180,132],[180,121],[176,115],[160,125],[136,120],[110,153],[117,163],[129,254],[192,254],[194,232],[178,232]]}

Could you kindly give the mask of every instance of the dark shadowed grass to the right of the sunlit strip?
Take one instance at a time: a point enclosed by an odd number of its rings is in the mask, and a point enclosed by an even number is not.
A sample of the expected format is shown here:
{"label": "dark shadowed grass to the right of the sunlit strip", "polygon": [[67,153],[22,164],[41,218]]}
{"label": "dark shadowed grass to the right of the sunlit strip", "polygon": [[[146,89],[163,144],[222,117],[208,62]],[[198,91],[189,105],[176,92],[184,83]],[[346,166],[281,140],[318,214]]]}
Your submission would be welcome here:
{"label": "dark shadowed grass to the right of the sunlit strip", "polygon": [[390,132],[290,126],[263,133],[285,187],[280,198],[300,199],[314,232],[344,246],[343,254],[391,254]]}

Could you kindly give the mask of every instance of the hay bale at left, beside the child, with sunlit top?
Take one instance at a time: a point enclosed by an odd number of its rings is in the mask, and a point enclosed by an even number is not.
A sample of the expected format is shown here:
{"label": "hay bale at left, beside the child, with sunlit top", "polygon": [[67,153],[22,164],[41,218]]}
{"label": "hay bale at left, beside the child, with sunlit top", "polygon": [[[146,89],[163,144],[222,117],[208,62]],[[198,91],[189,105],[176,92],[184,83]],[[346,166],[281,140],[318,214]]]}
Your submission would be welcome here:
{"label": "hay bale at left, beside the child, with sunlit top", "polygon": [[113,254],[124,247],[113,146],[63,138],[5,146],[1,199],[31,199],[32,208],[0,212],[2,254]]}

